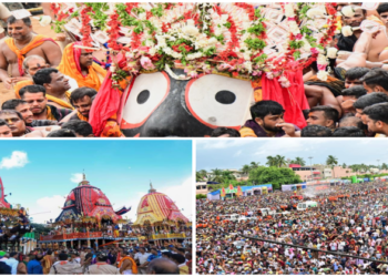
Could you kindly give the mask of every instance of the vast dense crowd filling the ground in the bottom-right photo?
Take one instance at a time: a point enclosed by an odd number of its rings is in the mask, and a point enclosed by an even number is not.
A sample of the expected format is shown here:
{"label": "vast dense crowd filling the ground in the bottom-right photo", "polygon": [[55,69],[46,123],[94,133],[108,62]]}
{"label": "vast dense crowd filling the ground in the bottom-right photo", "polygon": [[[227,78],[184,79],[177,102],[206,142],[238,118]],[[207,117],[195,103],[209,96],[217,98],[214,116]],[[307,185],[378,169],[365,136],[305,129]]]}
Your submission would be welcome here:
{"label": "vast dense crowd filling the ground in the bottom-right photo", "polygon": [[[388,274],[386,188],[387,184],[376,182],[330,186],[319,194],[309,191],[308,196],[302,193],[303,199],[292,197],[293,192],[200,199],[196,202],[196,273]],[[306,201],[318,205],[297,211],[296,204]],[[261,208],[276,214],[263,215]],[[225,217],[232,214],[245,218]]]}

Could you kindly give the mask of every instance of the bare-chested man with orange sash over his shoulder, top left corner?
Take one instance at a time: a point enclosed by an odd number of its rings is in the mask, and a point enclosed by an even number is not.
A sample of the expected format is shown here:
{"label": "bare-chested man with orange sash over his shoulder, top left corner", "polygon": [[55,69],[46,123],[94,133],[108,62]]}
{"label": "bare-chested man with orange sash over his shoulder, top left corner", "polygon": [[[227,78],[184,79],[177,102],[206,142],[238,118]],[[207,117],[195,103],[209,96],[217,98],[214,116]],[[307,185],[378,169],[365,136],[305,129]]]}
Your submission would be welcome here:
{"label": "bare-chested man with orange sash over his shoulder, top left corner", "polygon": [[25,57],[40,55],[51,66],[58,66],[61,62],[60,47],[50,38],[34,34],[29,18],[17,20],[13,16],[10,17],[8,32],[11,38],[0,43],[0,80],[7,89],[24,75],[22,63]]}

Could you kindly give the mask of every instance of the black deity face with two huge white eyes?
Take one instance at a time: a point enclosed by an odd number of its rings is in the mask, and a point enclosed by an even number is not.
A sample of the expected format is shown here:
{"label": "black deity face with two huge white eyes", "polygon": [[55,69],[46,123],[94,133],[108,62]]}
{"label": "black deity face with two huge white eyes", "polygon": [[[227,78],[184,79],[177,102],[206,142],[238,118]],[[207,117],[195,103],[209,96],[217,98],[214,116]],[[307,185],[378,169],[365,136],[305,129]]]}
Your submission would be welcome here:
{"label": "black deity face with two huge white eyes", "polygon": [[[174,69],[176,75],[183,70]],[[239,129],[254,101],[249,81],[216,74],[176,80],[166,72],[141,74],[122,96],[125,136],[205,136],[216,127]]]}

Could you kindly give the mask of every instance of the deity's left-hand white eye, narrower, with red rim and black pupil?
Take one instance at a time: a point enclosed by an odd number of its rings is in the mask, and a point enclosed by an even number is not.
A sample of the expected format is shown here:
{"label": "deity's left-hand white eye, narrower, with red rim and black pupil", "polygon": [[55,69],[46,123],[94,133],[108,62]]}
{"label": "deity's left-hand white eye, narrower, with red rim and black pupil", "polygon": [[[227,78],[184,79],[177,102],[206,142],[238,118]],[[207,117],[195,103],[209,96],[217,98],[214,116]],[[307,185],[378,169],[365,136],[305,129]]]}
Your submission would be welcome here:
{"label": "deity's left-hand white eye, narrower, with red rim and black pupil", "polygon": [[125,102],[121,127],[134,129],[144,124],[164,101],[170,91],[170,79],[164,72],[136,76]]}

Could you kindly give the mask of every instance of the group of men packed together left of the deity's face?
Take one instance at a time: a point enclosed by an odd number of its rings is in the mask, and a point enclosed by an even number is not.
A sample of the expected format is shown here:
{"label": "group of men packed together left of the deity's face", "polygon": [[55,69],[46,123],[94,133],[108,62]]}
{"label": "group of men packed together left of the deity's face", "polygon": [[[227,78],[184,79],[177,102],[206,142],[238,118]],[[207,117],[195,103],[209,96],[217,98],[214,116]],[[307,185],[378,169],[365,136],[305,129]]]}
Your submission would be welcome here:
{"label": "group of men packed together left of the deity's face", "polygon": [[[52,13],[50,3],[44,11]],[[92,137],[89,112],[106,75],[80,42],[61,50],[0,7],[8,37],[0,41],[0,80],[14,98],[1,103],[0,137]]]}

